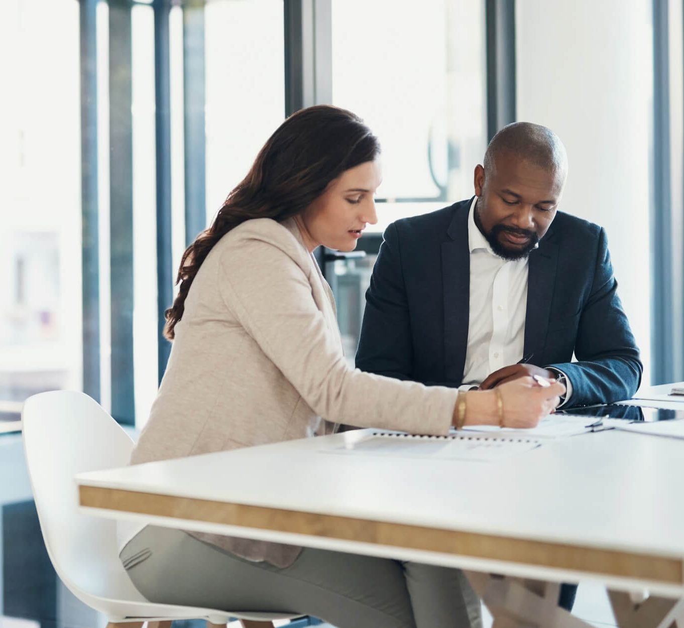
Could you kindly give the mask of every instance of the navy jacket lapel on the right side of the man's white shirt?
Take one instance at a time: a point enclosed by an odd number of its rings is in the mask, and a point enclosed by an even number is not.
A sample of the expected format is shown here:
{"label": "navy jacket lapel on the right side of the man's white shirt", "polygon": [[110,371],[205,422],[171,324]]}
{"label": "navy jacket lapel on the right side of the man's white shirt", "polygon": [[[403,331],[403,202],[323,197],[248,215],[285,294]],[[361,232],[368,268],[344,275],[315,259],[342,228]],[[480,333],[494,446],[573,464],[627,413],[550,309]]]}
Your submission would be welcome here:
{"label": "navy jacket lapel on the right side of the man's white shirt", "polygon": [[539,248],[529,254],[527,275],[527,313],[525,314],[525,349],[532,353],[531,364],[542,364],[547,329],[551,318],[551,300],[556,285],[558,243],[553,226],[542,238]]}

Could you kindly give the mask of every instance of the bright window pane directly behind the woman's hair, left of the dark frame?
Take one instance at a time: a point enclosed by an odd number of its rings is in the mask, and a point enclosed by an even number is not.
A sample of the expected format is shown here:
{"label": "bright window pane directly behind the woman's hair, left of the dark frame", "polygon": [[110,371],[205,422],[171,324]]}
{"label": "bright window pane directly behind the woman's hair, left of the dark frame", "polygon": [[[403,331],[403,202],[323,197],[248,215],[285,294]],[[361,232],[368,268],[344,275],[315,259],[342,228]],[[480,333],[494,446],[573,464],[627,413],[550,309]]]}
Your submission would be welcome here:
{"label": "bright window pane directly behind the woman's hair, left of the dark frame", "polygon": [[211,221],[285,118],[285,44],[282,2],[216,0],[206,18]]}

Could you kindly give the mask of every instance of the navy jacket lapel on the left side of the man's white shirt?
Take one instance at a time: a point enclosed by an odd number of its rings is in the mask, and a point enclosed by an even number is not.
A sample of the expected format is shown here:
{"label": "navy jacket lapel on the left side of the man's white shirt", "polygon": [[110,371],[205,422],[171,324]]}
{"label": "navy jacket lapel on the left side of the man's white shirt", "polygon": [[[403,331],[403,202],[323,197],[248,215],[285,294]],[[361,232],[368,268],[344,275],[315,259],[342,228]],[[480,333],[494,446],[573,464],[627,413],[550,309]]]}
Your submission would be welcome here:
{"label": "navy jacket lapel on the left side of the man's white shirt", "polygon": [[461,383],[468,346],[470,314],[470,250],[468,212],[470,202],[454,213],[442,244],[444,292],[444,362],[446,381]]}

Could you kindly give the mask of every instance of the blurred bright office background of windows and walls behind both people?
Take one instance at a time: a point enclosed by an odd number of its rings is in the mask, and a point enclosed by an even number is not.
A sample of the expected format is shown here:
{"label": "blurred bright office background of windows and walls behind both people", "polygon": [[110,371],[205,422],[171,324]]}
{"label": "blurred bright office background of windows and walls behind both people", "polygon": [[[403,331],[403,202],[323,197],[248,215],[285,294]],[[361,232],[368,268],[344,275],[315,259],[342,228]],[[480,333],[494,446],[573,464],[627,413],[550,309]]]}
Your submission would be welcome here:
{"label": "blurred bright office background of windows and walls behind both people", "polygon": [[[317,103],[384,149],[366,255],[319,251],[350,359],[384,227],[470,197],[488,139],[529,120],[568,148],[561,208],[607,229],[644,383],[684,379],[683,21],[677,0],[1,0],[0,418],[70,388],[140,428],[183,249]],[[0,615],[68,625],[54,574],[12,558],[38,538],[18,442]]]}

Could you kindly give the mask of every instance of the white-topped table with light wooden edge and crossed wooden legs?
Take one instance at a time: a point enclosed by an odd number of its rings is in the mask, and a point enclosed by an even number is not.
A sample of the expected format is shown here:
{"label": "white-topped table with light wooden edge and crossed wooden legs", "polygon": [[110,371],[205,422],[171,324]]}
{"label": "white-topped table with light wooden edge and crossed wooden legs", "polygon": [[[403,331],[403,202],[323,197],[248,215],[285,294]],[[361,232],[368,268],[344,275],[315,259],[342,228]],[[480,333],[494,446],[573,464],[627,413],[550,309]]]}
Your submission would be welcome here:
{"label": "white-topped table with light wooden edge and crossed wooden legs", "polygon": [[[458,566],[495,626],[585,626],[556,607],[557,583],[593,580],[611,589],[621,627],[684,628],[683,440],[605,431],[496,463],[339,452],[368,434],[82,474],[81,506]],[[641,605],[620,593],[642,589]]]}

